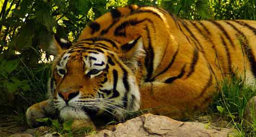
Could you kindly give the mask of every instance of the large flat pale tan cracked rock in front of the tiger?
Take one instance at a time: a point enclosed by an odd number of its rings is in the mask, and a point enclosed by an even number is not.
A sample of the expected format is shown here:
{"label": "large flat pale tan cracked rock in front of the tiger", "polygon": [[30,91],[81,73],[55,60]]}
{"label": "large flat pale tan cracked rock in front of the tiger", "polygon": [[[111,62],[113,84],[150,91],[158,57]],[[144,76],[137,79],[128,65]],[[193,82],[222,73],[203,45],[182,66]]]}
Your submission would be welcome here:
{"label": "large flat pale tan cracked rock in front of the tiger", "polygon": [[87,137],[228,137],[235,129],[205,128],[198,122],[180,122],[169,117],[144,114]]}

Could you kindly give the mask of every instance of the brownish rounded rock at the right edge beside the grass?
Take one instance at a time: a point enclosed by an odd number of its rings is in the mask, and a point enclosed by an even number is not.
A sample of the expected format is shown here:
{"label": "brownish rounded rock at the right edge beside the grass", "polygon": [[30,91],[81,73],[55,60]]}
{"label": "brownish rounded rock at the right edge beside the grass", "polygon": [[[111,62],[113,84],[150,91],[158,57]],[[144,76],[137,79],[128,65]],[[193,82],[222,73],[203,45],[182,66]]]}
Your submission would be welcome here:
{"label": "brownish rounded rock at the right edge beside the grass", "polygon": [[256,96],[252,97],[244,109],[244,126],[251,126],[253,117],[256,118]]}

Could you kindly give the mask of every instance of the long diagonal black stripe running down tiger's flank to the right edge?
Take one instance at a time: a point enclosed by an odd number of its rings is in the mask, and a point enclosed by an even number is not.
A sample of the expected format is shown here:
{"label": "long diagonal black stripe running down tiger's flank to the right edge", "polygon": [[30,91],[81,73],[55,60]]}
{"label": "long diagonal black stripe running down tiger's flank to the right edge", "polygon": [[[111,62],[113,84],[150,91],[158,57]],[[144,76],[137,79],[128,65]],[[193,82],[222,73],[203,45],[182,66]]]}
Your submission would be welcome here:
{"label": "long diagonal black stripe running down tiger's flank to the right edge", "polygon": [[[233,21],[237,23],[237,21],[235,21],[235,20],[233,20]],[[244,33],[242,31],[240,31],[239,29],[237,29],[235,27],[235,25],[233,25],[232,23],[229,23],[229,22],[226,22],[226,23],[229,24],[233,29],[235,29],[238,32],[238,34],[242,35],[243,39],[245,40],[245,41],[244,40],[241,41],[239,39],[239,36],[237,36],[238,40],[241,42],[242,46],[244,47],[244,50],[246,51],[245,54],[247,55],[247,57],[250,61],[252,73],[256,77],[256,59],[255,59],[255,56],[253,55],[251,47],[249,46],[249,41],[245,37]]]}

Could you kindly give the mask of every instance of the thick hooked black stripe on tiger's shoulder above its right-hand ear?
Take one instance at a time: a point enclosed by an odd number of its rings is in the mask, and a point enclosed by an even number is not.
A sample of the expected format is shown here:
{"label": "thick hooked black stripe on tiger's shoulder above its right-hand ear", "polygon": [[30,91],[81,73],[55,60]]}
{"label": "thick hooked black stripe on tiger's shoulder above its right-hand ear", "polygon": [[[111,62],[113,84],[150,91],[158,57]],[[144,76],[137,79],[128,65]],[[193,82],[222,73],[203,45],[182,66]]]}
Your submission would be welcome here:
{"label": "thick hooked black stripe on tiger's shoulder above its right-hand ear", "polygon": [[125,33],[125,28],[127,26],[135,26],[139,23],[143,23],[144,21],[149,21],[151,24],[153,24],[153,22],[148,19],[148,18],[145,18],[143,20],[138,20],[138,19],[130,19],[128,21],[125,21],[123,23],[121,23],[118,27],[116,27],[116,29],[114,30],[114,35],[115,36],[123,36],[125,37],[126,36],[126,33]]}

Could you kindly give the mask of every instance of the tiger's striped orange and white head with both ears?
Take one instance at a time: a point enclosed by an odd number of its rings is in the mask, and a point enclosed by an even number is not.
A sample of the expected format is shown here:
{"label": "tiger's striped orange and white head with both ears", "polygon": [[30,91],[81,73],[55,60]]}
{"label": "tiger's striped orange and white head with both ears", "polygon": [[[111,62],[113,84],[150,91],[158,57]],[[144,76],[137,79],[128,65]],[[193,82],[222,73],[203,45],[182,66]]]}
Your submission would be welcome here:
{"label": "tiger's striped orange and white head with both ears", "polygon": [[88,119],[111,114],[120,120],[127,111],[139,109],[134,71],[143,56],[141,37],[124,45],[99,37],[74,45],[55,39],[51,50],[56,57],[49,93],[61,118]]}

